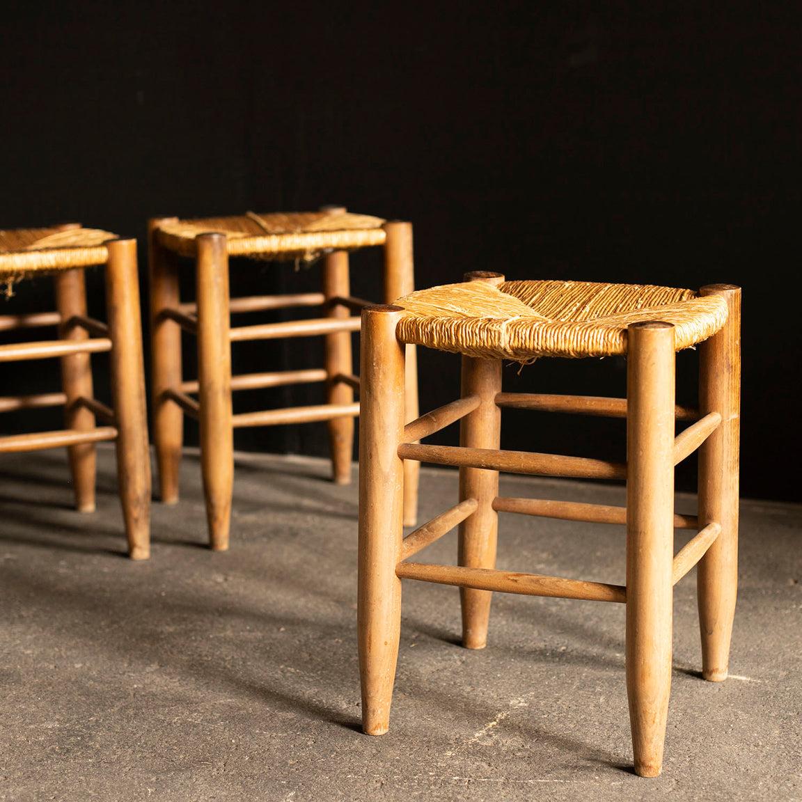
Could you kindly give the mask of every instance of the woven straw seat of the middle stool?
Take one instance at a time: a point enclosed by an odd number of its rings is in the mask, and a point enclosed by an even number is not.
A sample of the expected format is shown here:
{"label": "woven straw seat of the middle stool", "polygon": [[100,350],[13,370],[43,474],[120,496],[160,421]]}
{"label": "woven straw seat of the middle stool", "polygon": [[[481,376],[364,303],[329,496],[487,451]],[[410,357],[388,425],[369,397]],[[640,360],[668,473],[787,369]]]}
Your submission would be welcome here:
{"label": "woven straw seat of the middle stool", "polygon": [[182,256],[195,255],[198,234],[226,235],[229,256],[313,261],[330,250],[383,245],[384,221],[347,212],[296,212],[161,221],[159,241]]}

